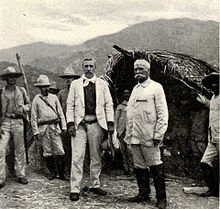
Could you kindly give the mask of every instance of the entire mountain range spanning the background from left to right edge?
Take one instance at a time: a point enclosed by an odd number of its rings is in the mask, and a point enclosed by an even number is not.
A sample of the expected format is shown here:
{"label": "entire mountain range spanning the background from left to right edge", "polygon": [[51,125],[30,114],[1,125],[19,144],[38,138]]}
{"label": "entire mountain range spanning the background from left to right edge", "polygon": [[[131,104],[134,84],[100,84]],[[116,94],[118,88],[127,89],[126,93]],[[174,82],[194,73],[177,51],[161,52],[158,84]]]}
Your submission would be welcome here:
{"label": "entire mountain range spanning the background from left to right edge", "polygon": [[97,74],[100,74],[107,55],[113,51],[114,44],[125,49],[159,49],[183,53],[210,64],[217,64],[219,63],[219,23],[187,18],[146,21],[114,34],[91,39],[79,46],[49,45],[38,42],[0,50],[0,60],[7,60],[10,53],[11,57],[14,57],[20,50],[22,62],[60,73],[70,64],[77,72],[81,72],[82,58],[94,56],[97,59]]}

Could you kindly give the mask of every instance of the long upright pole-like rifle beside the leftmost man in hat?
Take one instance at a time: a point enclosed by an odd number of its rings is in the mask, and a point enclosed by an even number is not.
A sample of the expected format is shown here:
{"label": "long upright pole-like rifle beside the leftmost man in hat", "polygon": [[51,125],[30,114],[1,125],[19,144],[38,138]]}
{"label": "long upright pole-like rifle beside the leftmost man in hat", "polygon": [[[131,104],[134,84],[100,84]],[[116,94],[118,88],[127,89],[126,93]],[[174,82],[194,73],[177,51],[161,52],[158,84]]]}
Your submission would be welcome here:
{"label": "long upright pole-like rifle beside the leftmost man in hat", "polygon": [[[23,81],[24,81],[24,88],[26,89],[27,91],[27,95],[28,95],[28,98],[30,99],[30,94],[29,94],[29,88],[28,88],[28,83],[27,83],[27,78],[26,78],[26,75],[25,75],[25,72],[24,72],[24,69],[20,63],[20,59],[21,57],[16,53],[16,59],[17,59],[17,62],[18,62],[18,67],[23,75]],[[25,146],[25,155],[26,155],[26,161],[27,161],[27,164],[29,165],[29,158],[28,158],[28,141],[27,141],[27,132],[28,132],[28,127],[30,126],[29,125],[29,115],[28,114],[25,114],[25,117],[23,118],[23,121],[24,121],[24,146]]]}

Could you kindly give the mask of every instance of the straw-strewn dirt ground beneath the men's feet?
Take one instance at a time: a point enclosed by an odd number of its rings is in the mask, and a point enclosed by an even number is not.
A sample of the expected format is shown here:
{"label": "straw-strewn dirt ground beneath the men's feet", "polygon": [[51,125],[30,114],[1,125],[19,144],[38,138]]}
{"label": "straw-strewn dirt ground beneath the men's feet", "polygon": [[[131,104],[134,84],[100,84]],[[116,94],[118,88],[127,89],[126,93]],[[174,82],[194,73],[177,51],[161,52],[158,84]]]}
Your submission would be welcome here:
{"label": "straw-strewn dirt ground beneath the men's feet", "polygon": [[[128,203],[127,198],[137,193],[134,177],[125,175],[103,174],[102,188],[108,191],[106,197],[91,194],[80,196],[77,202],[69,200],[70,185],[68,181],[58,179],[48,181],[42,174],[28,171],[28,185],[18,184],[9,177],[6,186],[0,190],[0,208],[13,209],[156,209],[155,190],[151,179],[151,204]],[[88,181],[84,178],[83,185]],[[191,179],[175,176],[166,177],[168,209],[217,209],[219,199],[215,197],[199,197],[194,194],[184,194],[183,187],[193,186]]]}

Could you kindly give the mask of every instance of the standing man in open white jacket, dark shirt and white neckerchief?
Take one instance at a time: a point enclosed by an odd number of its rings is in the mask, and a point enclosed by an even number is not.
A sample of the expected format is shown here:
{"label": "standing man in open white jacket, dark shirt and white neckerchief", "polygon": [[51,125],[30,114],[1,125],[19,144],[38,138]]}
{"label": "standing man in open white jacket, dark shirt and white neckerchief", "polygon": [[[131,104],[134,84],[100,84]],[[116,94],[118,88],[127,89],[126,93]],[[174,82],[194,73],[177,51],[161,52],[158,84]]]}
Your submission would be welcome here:
{"label": "standing man in open white jacket, dark shirt and white neckerchief", "polygon": [[101,142],[104,130],[114,132],[114,111],[112,98],[105,81],[97,78],[93,58],[82,62],[84,74],[71,83],[67,99],[67,127],[72,136],[72,167],[70,200],[79,199],[80,184],[83,177],[83,160],[86,142],[90,153],[89,192],[107,195],[100,189]]}

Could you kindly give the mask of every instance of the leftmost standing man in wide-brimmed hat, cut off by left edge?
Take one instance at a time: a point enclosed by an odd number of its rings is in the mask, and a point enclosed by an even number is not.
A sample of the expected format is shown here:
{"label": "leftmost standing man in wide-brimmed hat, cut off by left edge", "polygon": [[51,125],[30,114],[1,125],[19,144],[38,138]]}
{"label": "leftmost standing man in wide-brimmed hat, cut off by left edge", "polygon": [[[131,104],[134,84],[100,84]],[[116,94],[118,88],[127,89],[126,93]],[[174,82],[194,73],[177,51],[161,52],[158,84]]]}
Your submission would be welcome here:
{"label": "leftmost standing man in wide-brimmed hat, cut off by left edge", "polygon": [[28,184],[25,178],[25,145],[23,116],[30,111],[30,101],[26,90],[16,86],[16,80],[22,73],[16,72],[13,67],[8,67],[0,75],[6,81],[6,86],[1,92],[1,130],[0,130],[0,188],[5,186],[6,149],[11,136],[15,148],[15,172],[18,182]]}

